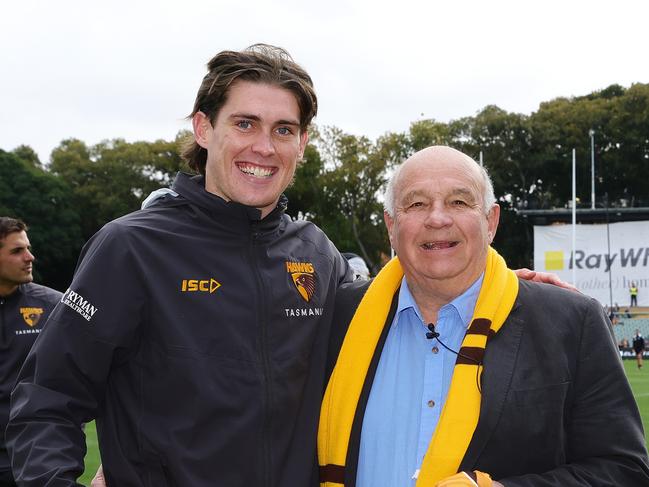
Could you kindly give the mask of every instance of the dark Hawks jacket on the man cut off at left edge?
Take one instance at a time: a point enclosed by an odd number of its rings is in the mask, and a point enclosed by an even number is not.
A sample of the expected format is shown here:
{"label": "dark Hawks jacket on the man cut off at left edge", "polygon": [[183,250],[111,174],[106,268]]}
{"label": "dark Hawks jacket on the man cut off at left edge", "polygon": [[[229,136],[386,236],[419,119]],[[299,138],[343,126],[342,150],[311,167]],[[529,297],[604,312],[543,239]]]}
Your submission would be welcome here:
{"label": "dark Hawks jacket on the man cut off at left edge", "polygon": [[11,470],[4,441],[11,390],[25,357],[60,299],[60,292],[31,282],[19,285],[8,296],[0,296],[0,471]]}

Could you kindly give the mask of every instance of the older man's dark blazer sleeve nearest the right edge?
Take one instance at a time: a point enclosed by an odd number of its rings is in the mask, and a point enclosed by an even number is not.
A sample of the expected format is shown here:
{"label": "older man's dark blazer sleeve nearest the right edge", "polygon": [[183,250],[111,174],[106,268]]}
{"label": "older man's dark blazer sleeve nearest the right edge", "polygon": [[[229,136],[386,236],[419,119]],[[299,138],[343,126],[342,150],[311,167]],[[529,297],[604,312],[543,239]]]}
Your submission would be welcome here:
{"label": "older man's dark blazer sleeve nearest the right edge", "polygon": [[566,461],[544,473],[498,479],[505,487],[649,485],[642,423],[608,320],[594,300],[582,319]]}

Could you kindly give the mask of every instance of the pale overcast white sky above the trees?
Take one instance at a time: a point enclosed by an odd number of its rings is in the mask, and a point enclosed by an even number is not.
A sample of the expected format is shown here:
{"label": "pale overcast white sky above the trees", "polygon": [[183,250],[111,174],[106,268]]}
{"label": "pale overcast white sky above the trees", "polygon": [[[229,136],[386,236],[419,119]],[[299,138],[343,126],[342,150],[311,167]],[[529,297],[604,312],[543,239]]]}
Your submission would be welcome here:
{"label": "pale overcast white sky above the trees", "polygon": [[641,0],[2,2],[0,149],[171,140],[207,61],[257,42],[309,72],[319,126],[375,139],[487,105],[530,114],[648,83],[648,18]]}

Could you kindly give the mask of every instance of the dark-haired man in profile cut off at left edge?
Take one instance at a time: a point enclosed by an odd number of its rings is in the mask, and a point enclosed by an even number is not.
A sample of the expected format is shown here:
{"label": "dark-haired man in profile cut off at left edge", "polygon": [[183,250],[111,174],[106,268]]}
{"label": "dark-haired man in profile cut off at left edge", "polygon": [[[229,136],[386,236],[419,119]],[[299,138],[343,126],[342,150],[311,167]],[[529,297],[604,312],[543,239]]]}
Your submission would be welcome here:
{"label": "dark-haired man in profile cut off at left edge", "polygon": [[9,399],[18,371],[61,293],[32,282],[27,225],[0,217],[0,487],[16,485],[5,447]]}

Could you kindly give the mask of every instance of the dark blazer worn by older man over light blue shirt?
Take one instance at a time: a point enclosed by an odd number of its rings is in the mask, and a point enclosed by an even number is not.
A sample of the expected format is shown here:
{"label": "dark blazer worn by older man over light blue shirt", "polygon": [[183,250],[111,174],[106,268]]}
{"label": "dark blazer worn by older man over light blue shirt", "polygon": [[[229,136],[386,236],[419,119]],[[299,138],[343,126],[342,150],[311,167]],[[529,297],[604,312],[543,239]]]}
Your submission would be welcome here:
{"label": "dark blazer worn by older man over light blue shirt", "polygon": [[[339,289],[334,323],[351,321],[368,285]],[[640,415],[602,306],[556,286],[519,286],[487,345],[480,417],[460,470],[487,472],[505,487],[649,486]],[[356,485],[361,425],[397,298],[356,409],[345,487]],[[344,333],[332,330],[329,371]]]}

